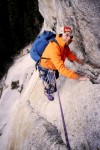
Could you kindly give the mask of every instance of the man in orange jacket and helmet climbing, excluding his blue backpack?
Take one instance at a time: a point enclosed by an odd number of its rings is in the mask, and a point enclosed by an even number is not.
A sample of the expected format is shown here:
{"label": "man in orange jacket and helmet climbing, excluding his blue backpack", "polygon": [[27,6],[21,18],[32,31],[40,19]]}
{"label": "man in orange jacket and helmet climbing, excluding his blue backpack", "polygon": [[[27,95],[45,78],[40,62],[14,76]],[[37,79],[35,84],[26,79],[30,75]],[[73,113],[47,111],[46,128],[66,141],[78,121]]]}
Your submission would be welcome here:
{"label": "man in orange jacket and helmet climbing, excluding his blue backpack", "polygon": [[76,58],[75,54],[70,51],[69,44],[73,40],[72,29],[67,26],[61,27],[55,40],[56,42],[51,41],[47,45],[42,54],[42,57],[47,59],[40,59],[38,65],[39,75],[43,80],[44,94],[51,101],[54,100],[52,93],[57,91],[56,79],[59,77],[59,73],[70,79],[87,79],[87,77],[78,75],[64,65],[66,58],[79,64],[84,62],[82,59]]}

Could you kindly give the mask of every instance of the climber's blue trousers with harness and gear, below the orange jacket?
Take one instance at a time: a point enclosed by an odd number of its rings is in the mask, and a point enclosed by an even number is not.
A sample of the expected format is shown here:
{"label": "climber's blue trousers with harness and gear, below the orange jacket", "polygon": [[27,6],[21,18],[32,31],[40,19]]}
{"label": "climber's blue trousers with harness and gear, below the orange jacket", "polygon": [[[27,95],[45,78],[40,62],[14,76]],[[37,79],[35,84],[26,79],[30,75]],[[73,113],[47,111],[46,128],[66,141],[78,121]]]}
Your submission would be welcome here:
{"label": "climber's blue trousers with harness and gear, below the orange jacket", "polygon": [[59,77],[57,70],[45,69],[38,65],[39,77],[43,81],[44,92],[52,94],[57,91],[56,79]]}

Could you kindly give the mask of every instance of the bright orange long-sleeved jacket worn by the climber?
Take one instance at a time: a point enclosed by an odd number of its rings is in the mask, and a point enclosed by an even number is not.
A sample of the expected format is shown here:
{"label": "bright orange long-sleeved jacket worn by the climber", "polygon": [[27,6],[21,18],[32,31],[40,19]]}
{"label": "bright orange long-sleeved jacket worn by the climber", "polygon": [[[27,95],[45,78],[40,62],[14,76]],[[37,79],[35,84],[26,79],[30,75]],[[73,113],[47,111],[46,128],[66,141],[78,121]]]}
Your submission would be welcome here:
{"label": "bright orange long-sleeved jacket worn by the climber", "polygon": [[40,65],[47,69],[58,70],[60,74],[67,78],[78,78],[75,72],[69,70],[64,65],[66,58],[77,62],[76,56],[70,51],[69,47],[65,45],[65,42],[59,35],[56,36],[56,40],[60,47],[57,43],[50,42],[42,54],[42,57],[49,59],[41,59]]}

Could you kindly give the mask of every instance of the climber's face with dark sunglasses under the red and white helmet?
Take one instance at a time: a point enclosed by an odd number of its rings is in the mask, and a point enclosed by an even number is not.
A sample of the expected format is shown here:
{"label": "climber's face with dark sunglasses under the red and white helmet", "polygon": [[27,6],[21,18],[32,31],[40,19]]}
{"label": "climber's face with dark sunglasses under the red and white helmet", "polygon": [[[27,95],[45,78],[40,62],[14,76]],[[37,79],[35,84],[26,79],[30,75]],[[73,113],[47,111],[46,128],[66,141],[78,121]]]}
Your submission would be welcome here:
{"label": "climber's face with dark sunglasses under the red and white helmet", "polygon": [[62,34],[62,39],[66,42],[66,45],[69,45],[72,42],[73,35],[72,32],[65,32]]}

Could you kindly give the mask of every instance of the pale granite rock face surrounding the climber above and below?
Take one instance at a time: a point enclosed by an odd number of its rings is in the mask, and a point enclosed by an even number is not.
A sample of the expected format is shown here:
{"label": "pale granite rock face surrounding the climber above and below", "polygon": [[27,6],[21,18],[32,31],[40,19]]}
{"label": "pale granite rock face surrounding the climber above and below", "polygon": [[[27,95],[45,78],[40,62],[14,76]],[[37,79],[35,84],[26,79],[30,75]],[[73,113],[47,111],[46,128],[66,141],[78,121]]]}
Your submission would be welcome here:
{"label": "pale granite rock face surrounding the climber above and below", "polygon": [[[71,50],[85,63],[66,60],[65,65],[90,80],[60,76],[51,102],[29,54],[16,60],[1,92],[0,150],[65,150],[58,92],[71,149],[100,150],[100,2],[39,0],[39,10],[44,17],[43,30],[58,33],[62,25],[73,28]],[[17,87],[12,88],[16,82]]]}

